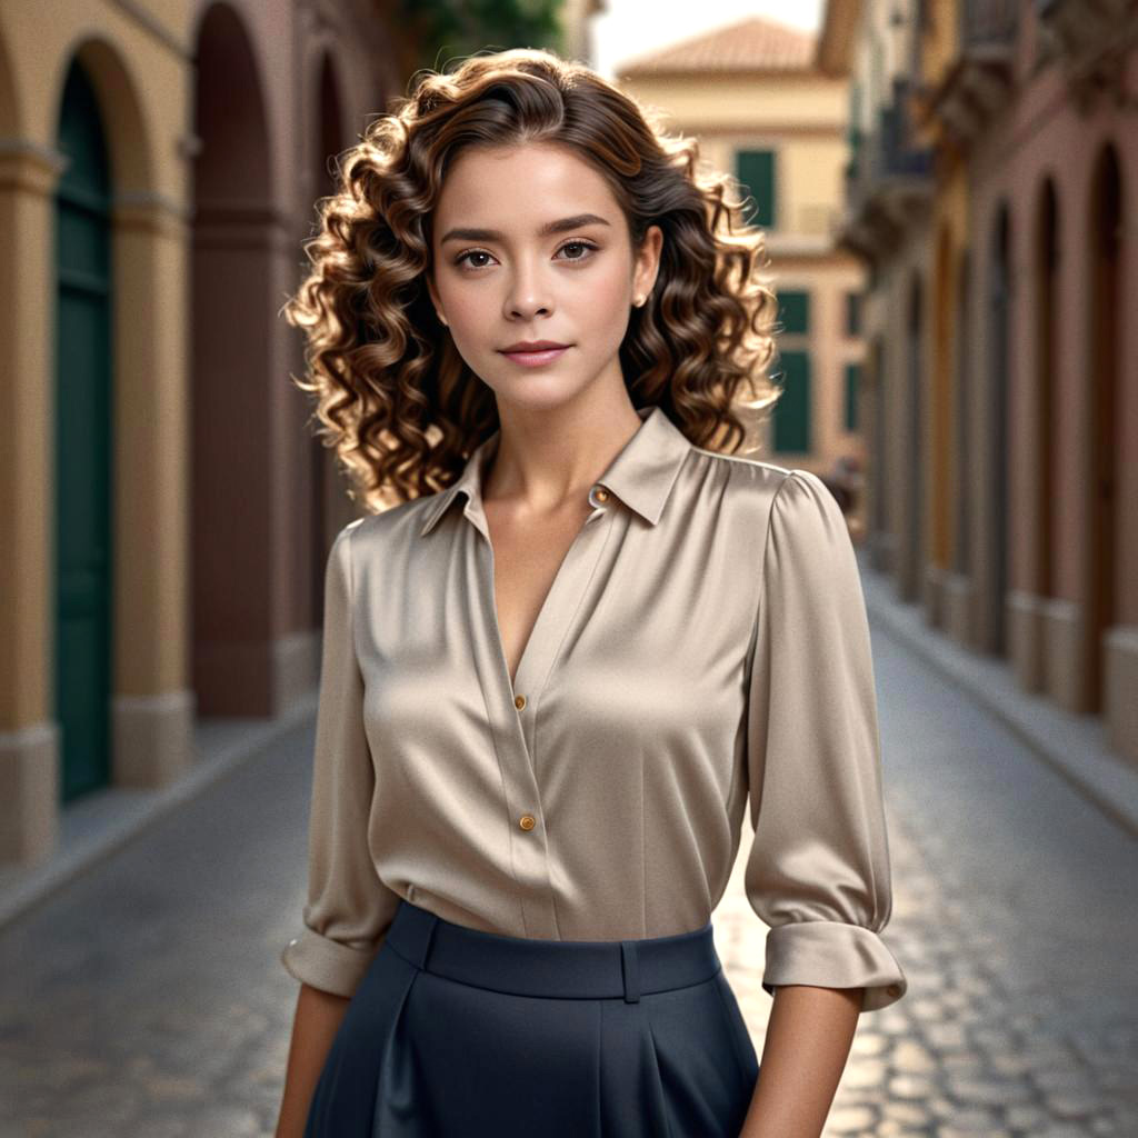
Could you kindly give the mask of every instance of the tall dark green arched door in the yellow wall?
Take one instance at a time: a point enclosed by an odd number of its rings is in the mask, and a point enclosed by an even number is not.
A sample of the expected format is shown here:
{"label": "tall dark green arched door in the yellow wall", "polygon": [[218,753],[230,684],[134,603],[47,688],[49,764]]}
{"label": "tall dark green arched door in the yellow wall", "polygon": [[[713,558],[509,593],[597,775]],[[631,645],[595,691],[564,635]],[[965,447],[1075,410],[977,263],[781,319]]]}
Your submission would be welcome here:
{"label": "tall dark green arched door in the yellow wall", "polygon": [[56,196],[55,714],[63,801],[110,780],[109,170],[94,91],[72,65]]}

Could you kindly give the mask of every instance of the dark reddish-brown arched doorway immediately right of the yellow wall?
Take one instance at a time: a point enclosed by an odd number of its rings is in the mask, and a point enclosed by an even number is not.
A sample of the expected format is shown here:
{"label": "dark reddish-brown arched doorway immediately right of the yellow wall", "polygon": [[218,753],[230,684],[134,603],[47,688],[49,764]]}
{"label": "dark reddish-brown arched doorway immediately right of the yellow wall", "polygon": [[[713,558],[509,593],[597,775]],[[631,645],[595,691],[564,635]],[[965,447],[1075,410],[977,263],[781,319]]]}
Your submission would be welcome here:
{"label": "dark reddish-brown arched doorway immediately right of the yellow wall", "polygon": [[201,715],[273,715],[286,667],[295,500],[278,478],[294,420],[275,262],[286,237],[271,193],[263,86],[238,13],[206,10],[198,31],[191,258],[193,636]]}

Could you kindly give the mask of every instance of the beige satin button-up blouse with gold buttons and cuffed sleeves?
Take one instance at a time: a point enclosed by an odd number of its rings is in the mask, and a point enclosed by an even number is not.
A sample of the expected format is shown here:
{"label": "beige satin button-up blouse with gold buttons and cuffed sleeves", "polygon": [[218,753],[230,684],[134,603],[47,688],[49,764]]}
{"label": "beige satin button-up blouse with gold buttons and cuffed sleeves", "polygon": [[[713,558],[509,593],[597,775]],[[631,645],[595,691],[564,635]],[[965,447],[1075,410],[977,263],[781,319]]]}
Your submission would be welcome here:
{"label": "beige satin button-up blouse with gold buttons and cuffed sleeves", "polygon": [[750,801],[762,986],[907,981],[869,632],[806,470],[693,446],[659,407],[589,490],[511,685],[481,479],[357,519],[328,559],[298,980],[351,996],[401,897],[512,937],[687,932]]}

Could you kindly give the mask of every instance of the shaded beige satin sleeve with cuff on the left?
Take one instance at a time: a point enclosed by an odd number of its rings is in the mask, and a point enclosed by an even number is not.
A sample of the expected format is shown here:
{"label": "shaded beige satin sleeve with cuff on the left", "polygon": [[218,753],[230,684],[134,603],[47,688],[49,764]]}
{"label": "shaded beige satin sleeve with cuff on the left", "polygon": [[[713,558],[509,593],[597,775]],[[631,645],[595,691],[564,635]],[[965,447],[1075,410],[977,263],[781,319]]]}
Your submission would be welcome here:
{"label": "shaded beige satin sleeve with cuff on the left", "polygon": [[399,901],[379,880],[368,841],[374,770],[353,629],[352,531],[357,525],[337,534],[328,555],[308,893],[300,935],[280,957],[295,979],[347,997],[368,971]]}

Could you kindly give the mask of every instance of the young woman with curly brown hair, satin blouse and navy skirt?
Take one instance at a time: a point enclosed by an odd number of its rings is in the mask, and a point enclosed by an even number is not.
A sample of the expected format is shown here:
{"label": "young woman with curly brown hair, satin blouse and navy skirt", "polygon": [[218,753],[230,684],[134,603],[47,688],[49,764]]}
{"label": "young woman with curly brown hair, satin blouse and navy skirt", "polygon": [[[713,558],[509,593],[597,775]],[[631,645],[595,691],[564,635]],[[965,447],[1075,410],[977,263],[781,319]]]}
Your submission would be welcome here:
{"label": "young woman with curly brown hair, satin blouse and navy skirt", "polygon": [[[281,1138],[814,1138],[906,990],[842,513],[724,446],[773,354],[742,205],[535,50],[426,73],[343,163],[289,318],[369,516]],[[761,1078],[710,924],[748,801]]]}

